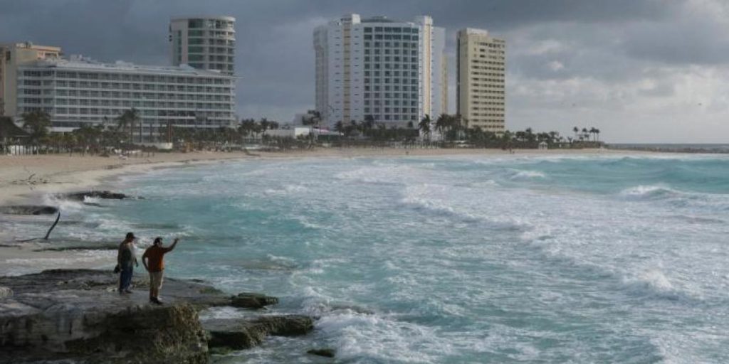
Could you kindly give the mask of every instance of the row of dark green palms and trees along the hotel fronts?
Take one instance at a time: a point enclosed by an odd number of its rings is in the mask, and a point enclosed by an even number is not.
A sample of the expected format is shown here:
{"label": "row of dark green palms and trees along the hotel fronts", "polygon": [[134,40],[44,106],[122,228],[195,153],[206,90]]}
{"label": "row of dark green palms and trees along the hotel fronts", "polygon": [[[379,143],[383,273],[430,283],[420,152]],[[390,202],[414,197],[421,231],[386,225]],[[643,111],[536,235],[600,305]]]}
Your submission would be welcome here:
{"label": "row of dark green palms and trees along the hotel fronts", "polygon": [[[305,125],[321,125],[321,115],[314,111],[302,120]],[[125,110],[113,121],[82,127],[67,133],[50,133],[50,116],[44,111],[30,111],[23,114],[23,129],[27,130],[28,141],[32,145],[44,145],[68,148],[93,149],[101,151],[104,148],[128,149],[136,141],[143,140],[141,130],[141,116],[135,108]],[[262,118],[260,120],[241,119],[236,128],[200,128],[176,127],[168,125],[159,127],[156,135],[152,134],[151,126],[149,139],[192,143],[193,146],[204,148],[206,145],[236,144],[244,141],[256,140],[273,145],[282,144],[282,138],[266,135],[268,130],[276,130],[280,124],[276,121]],[[384,145],[384,143],[405,143],[413,146],[440,146],[440,147],[473,147],[473,148],[501,148],[501,149],[529,149],[537,148],[540,143],[547,143],[550,148],[581,148],[585,146],[599,146],[600,130],[591,127],[574,127],[574,135],[561,136],[559,132],[534,132],[531,127],[525,130],[494,132],[484,130],[478,125],[471,125],[469,121],[453,114],[441,114],[437,119],[429,115],[424,116],[417,124],[407,122],[388,126],[375,122],[372,116],[366,116],[362,122],[336,122],[334,130],[340,133],[333,145]],[[313,136],[308,138],[306,145],[311,147]],[[330,143],[332,144],[332,143]],[[291,146],[291,143],[283,143]]]}

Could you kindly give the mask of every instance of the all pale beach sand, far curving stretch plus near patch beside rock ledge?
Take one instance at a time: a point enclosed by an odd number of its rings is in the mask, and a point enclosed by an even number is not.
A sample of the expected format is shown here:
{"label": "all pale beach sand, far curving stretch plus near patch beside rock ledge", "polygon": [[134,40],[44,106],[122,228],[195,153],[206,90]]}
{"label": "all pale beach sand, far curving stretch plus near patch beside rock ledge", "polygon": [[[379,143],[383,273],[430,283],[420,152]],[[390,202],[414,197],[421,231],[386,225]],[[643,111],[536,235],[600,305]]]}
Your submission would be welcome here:
{"label": "all pale beach sand, far curving stretch plus near patch beside rock ledge", "polygon": [[[203,164],[242,159],[280,158],[353,158],[353,157],[418,157],[478,155],[523,157],[538,155],[646,154],[651,152],[614,151],[609,149],[394,149],[394,148],[330,148],[285,152],[198,151],[191,153],[157,153],[144,157],[120,159],[74,155],[0,156],[0,205],[39,204],[44,194],[63,191],[113,190],[115,177],[147,173],[150,170],[181,165]],[[12,217],[11,217],[12,218]],[[43,223],[47,223],[44,219]],[[120,232],[120,237],[124,232]],[[0,223],[0,275],[39,272],[53,268],[106,268],[114,264],[112,251],[36,251],[46,242],[18,242],[4,232]]]}

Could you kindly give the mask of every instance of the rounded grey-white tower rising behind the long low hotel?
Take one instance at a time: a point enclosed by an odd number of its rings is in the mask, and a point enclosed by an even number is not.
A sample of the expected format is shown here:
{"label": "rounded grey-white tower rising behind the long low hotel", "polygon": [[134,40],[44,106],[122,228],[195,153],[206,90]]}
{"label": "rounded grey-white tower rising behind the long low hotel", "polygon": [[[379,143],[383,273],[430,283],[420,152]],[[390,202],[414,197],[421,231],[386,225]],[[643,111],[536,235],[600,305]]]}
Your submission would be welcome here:
{"label": "rounded grey-white tower rising behind the long low hotel", "polygon": [[235,73],[235,17],[174,17],[172,65]]}

